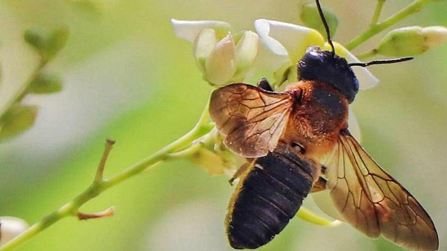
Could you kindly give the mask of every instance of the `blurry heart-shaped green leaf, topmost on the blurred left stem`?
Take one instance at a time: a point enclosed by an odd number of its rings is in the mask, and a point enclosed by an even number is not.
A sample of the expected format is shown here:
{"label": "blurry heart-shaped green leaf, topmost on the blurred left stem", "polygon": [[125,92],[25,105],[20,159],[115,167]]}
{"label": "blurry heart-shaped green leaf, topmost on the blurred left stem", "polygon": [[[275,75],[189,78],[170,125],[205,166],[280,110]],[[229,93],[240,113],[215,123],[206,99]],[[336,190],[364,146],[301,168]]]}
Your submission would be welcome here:
{"label": "blurry heart-shaped green leaf, topmost on the blurred left stem", "polygon": [[24,40],[42,56],[43,60],[48,61],[65,46],[69,34],[67,27],[59,27],[51,32],[30,28],[25,31]]}

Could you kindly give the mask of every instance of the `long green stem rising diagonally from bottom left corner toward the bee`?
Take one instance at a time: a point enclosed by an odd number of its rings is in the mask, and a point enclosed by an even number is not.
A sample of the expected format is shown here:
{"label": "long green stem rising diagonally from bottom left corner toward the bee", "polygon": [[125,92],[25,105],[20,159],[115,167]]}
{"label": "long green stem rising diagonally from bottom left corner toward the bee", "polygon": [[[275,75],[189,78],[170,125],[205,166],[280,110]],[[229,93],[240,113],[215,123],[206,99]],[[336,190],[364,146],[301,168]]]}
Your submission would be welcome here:
{"label": "long green stem rising diagonally from bottom left corner toward the bee", "polygon": [[[61,206],[56,211],[48,214],[48,216],[44,217],[43,219],[35,223],[33,226],[29,227],[26,231],[16,236],[11,241],[5,243],[5,245],[0,247],[0,251],[12,250],[19,244],[37,235],[38,233],[42,232],[43,230],[53,225],[54,223],[60,221],[61,219],[66,218],[68,216],[77,216],[78,209],[87,201],[97,197],[105,190],[118,185],[119,183],[127,180],[128,178],[131,178],[132,176],[141,173],[147,167],[157,162],[169,159],[170,154],[179,151],[180,149],[184,149],[189,145],[192,145],[195,139],[211,131],[211,129],[214,126],[212,123],[208,123],[209,119],[208,105],[209,101],[205,106],[202,116],[200,117],[196,126],[191,131],[189,131],[179,139],[175,140],[168,146],[164,147],[163,149],[143,159],[137,164],[124,169],[123,171],[119,172],[118,174],[109,179],[101,180],[98,177],[96,177],[93,183],[84,192],[75,197],[72,201]],[[106,147],[105,153],[108,150],[110,149],[107,149]],[[98,168],[99,169],[103,168],[104,164],[105,160],[101,161]]]}

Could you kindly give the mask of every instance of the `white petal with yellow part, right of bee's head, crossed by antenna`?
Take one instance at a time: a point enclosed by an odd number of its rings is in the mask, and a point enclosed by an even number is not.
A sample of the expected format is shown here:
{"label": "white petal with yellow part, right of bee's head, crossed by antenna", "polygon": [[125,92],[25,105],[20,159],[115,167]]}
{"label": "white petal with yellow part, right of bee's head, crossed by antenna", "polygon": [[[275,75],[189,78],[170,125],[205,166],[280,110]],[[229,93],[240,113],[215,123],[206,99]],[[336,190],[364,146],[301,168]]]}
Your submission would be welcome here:
{"label": "white petal with yellow part, right of bee's head, crossed by antenna", "polygon": [[[342,45],[333,42],[335,47],[335,52],[340,57],[344,57],[348,63],[360,62],[352,53],[350,53],[346,48]],[[325,49],[331,50],[331,47],[328,43],[325,43]],[[359,80],[360,90],[367,90],[376,86],[379,83],[379,80],[372,75],[372,73],[366,69],[365,67],[353,67],[354,74]]]}

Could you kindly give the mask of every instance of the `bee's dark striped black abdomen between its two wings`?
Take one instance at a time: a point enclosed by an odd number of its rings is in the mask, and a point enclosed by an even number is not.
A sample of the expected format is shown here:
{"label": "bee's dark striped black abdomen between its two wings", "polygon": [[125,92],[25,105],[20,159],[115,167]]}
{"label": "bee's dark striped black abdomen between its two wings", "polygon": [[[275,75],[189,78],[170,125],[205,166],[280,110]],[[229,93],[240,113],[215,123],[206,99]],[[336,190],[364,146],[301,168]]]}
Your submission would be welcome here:
{"label": "bee's dark striped black abdomen between its two wings", "polygon": [[238,184],[227,215],[232,247],[257,248],[289,223],[309,193],[313,166],[287,149],[258,158]]}

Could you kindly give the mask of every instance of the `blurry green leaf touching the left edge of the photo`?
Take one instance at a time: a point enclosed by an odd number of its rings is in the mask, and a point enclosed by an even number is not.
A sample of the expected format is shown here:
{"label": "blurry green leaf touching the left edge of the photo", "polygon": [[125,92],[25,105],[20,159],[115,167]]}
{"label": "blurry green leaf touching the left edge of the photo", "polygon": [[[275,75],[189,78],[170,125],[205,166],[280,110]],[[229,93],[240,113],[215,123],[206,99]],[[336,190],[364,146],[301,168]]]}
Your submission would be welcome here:
{"label": "blurry green leaf touching the left edge of the photo", "polygon": [[16,104],[0,118],[0,141],[9,139],[34,125],[37,106]]}

